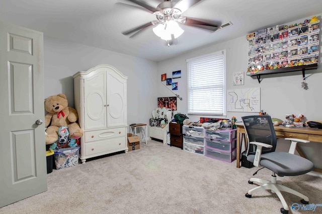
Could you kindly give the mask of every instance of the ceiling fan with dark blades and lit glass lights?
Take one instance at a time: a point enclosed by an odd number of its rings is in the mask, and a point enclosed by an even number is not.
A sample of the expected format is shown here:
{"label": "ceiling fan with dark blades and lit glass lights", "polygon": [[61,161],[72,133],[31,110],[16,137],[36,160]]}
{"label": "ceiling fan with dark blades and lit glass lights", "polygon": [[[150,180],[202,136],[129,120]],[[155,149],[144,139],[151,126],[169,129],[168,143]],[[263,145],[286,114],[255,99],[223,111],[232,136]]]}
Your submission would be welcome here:
{"label": "ceiling fan with dark blades and lit glass lights", "polygon": [[152,13],[156,17],[155,21],[148,22],[131,30],[122,32],[123,35],[129,35],[136,32],[131,35],[130,38],[136,36],[146,28],[154,25],[156,26],[153,28],[154,34],[161,39],[166,40],[168,46],[170,46],[171,44],[173,44],[175,39],[177,39],[184,32],[184,30],[182,30],[178,24],[188,25],[211,32],[215,32],[218,28],[221,28],[220,23],[218,22],[181,16],[182,13],[184,13],[186,10],[196,5],[197,3],[201,2],[202,0],[164,0],[156,8],[139,0],[126,1],[134,3],[141,7],[128,4],[123,5],[139,8],[141,10]]}

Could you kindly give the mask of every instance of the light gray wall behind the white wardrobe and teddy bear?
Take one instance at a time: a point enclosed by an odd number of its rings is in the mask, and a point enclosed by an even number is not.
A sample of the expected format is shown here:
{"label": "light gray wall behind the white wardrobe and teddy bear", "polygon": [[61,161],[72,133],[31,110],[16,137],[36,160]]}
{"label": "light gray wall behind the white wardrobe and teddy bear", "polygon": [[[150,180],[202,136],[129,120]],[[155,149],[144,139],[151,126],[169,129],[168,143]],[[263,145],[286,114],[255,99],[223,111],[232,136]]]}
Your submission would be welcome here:
{"label": "light gray wall behind the white wardrobe and teddy bear", "polygon": [[156,63],[129,55],[44,38],[44,96],[63,93],[68,105],[74,107],[72,75],[100,64],[118,69],[127,80],[127,122],[148,124],[156,107],[155,82],[159,79]]}

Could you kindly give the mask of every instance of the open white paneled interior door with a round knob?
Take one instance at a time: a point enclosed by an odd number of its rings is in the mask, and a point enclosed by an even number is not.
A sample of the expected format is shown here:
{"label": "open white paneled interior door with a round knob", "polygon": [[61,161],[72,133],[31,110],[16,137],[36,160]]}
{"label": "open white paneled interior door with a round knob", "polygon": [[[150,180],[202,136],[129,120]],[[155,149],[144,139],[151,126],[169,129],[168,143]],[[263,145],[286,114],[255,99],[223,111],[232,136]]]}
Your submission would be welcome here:
{"label": "open white paneled interior door with a round knob", "polygon": [[43,33],[0,22],[0,207],[47,190]]}

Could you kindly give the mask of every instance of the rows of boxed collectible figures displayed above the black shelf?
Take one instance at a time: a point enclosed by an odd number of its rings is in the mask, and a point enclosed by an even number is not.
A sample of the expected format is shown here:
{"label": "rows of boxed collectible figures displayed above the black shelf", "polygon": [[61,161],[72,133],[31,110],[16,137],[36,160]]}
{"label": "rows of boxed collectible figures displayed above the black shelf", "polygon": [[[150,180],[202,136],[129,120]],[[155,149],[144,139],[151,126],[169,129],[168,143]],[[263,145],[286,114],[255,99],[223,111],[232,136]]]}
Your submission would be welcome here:
{"label": "rows of boxed collectible figures displayed above the black shelf", "polygon": [[316,64],[319,22],[305,20],[296,26],[275,26],[248,34],[248,72]]}

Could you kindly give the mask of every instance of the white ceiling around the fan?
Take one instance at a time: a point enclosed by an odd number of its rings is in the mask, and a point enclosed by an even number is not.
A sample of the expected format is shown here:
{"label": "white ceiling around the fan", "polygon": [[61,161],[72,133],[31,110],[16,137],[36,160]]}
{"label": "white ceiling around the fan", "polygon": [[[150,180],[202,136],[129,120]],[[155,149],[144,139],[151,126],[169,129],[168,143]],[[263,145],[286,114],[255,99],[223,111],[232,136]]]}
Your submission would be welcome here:
{"label": "white ceiling around the fan", "polygon": [[[162,0],[141,0],[156,7]],[[186,1],[186,0],[182,0]],[[176,45],[152,32],[133,38],[121,32],[156,20],[155,16],[123,4],[126,0],[1,0],[0,21],[24,26],[44,36],[80,43],[153,61],[165,60],[193,49],[246,36],[256,30],[281,25],[321,13],[322,1],[310,0],[203,0],[182,16],[232,26],[214,33],[181,25],[185,30]],[[131,4],[131,3],[129,3]],[[132,4],[133,5],[133,4]],[[138,6],[140,7],[140,6]],[[320,17],[318,17],[320,19]]]}

